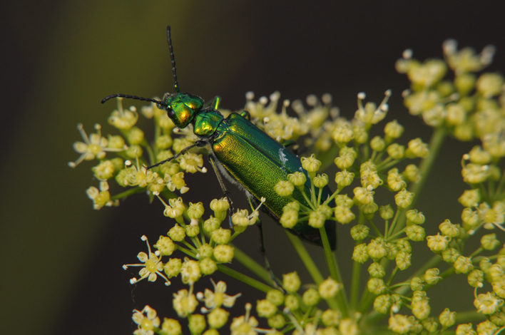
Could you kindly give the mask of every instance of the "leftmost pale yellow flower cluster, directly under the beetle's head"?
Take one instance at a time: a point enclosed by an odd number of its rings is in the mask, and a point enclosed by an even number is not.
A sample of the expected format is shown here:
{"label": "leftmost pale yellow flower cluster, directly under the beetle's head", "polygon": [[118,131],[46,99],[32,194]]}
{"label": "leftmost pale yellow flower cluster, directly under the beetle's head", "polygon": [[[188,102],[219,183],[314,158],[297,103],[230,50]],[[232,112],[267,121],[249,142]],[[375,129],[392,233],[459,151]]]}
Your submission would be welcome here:
{"label": "leftmost pale yellow flower cluster, directly under the beetle's head", "polygon": [[[203,168],[202,155],[196,153],[180,155],[174,160],[163,163],[155,170],[147,169],[146,165],[173,158],[183,148],[193,144],[196,137],[191,132],[185,132],[182,136],[173,139],[175,132],[183,132],[178,131],[172,120],[155,104],[143,107],[142,114],[154,120],[153,143],[150,143],[145,138],[143,130],[136,126],[138,121],[136,108],[132,106],[128,110],[123,109],[122,98],[118,98],[118,108],[108,118],[108,123],[117,128],[121,135],[108,135],[108,138],[105,138],[101,134],[101,125],[96,124],[97,133],[88,136],[83,125],[79,124],[77,127],[83,142],[76,142],[73,147],[81,153],[81,156],[76,162],[68,163],[68,165],[76,168],[83,160],[96,159],[99,161],[98,165],[91,170],[96,179],[102,182],[101,185],[105,185],[103,182],[108,185],[110,181],[115,180],[119,186],[128,187],[128,190],[117,195],[111,196],[108,193],[101,197],[98,197],[96,187],[90,187],[87,191],[88,196],[93,200],[93,207],[96,210],[106,205],[118,205],[119,199],[146,190],[151,197],[158,192],[171,198],[175,190],[183,194],[189,190],[184,181],[184,171],[206,172]],[[108,159],[106,158],[108,152],[116,153],[118,157]]]}

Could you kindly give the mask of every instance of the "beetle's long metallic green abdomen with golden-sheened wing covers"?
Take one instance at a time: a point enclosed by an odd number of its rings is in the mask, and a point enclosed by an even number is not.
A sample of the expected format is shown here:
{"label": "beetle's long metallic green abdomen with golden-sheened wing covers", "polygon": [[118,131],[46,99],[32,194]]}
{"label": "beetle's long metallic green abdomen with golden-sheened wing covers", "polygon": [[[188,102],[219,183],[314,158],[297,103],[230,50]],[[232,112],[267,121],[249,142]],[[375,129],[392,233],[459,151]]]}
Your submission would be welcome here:
{"label": "beetle's long metallic green abdomen with golden-sheened wing covers", "polygon": [[[300,171],[306,174],[300,158],[236,113],[223,120],[217,133],[219,135],[213,139],[212,149],[220,164],[254,197],[265,197],[265,207],[278,221],[282,207],[290,200],[277,195],[274,186],[279,180],[286,180],[290,173]],[[310,182],[307,181],[307,184],[309,186],[306,188],[310,190]],[[323,199],[331,193],[325,187]],[[292,196],[308,206],[300,190],[295,189]],[[325,227],[330,246],[335,249],[335,224],[328,220]],[[309,242],[322,245],[319,231],[306,221],[298,222],[292,231]]]}

